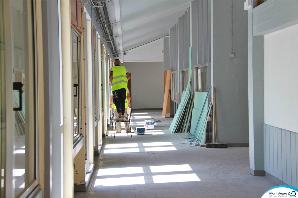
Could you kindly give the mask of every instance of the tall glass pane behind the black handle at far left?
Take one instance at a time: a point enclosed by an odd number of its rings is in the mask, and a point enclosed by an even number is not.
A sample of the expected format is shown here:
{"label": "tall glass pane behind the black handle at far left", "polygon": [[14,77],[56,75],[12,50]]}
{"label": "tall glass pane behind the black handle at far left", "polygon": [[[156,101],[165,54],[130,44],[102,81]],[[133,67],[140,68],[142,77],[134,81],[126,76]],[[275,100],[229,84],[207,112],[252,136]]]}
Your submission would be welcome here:
{"label": "tall glass pane behind the black handle at far left", "polygon": [[32,1],[11,1],[13,26],[13,91],[15,195],[35,179],[35,85]]}

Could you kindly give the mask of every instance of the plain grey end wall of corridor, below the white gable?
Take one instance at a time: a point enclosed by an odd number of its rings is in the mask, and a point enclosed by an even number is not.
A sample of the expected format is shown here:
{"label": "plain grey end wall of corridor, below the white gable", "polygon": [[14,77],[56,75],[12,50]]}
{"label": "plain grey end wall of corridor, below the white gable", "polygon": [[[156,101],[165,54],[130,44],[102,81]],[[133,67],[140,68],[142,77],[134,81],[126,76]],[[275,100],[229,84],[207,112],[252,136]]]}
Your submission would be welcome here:
{"label": "plain grey end wall of corridor, below the white gable", "polygon": [[164,99],[163,62],[125,62],[131,73],[133,109],[162,108]]}

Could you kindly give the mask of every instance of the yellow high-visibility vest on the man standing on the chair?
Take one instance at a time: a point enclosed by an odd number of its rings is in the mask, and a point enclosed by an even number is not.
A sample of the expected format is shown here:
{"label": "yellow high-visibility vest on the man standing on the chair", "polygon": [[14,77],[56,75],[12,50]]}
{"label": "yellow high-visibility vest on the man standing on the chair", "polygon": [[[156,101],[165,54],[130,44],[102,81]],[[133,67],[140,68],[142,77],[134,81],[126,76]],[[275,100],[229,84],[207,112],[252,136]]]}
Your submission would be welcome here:
{"label": "yellow high-visibility vest on the man standing on the chair", "polygon": [[124,66],[113,66],[111,67],[113,71],[113,80],[112,80],[112,91],[127,88],[127,75],[126,69]]}

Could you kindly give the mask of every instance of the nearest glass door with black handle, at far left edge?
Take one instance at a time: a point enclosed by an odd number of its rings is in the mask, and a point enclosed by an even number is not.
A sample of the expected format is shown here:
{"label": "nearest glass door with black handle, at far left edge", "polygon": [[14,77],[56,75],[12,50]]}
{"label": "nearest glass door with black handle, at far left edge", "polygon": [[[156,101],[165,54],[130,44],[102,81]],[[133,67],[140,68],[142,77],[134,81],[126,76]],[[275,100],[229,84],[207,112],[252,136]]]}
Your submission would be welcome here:
{"label": "nearest glass door with black handle, at far left edge", "polygon": [[38,184],[33,3],[0,2],[0,164],[4,197],[27,197]]}

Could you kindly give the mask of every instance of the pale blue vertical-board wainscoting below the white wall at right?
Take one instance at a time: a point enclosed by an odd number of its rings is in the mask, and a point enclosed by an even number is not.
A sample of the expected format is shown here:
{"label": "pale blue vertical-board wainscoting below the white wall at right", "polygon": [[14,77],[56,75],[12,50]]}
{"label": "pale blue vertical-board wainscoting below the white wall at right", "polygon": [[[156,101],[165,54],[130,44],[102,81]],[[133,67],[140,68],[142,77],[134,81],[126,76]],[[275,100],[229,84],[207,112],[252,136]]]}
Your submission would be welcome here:
{"label": "pale blue vertical-board wainscoting below the white wall at right", "polygon": [[297,188],[298,133],[264,124],[265,171]]}

